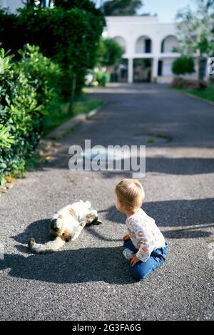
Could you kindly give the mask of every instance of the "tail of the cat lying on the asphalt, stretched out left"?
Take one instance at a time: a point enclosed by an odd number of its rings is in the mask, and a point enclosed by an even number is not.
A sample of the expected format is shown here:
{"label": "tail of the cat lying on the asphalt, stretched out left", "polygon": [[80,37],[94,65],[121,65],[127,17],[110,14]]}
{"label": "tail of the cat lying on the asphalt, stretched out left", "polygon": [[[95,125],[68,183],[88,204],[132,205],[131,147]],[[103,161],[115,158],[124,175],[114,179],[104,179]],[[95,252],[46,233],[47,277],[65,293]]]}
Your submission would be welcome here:
{"label": "tail of the cat lying on the asphalt, stretched out left", "polygon": [[50,241],[44,244],[36,243],[32,237],[29,240],[29,249],[36,254],[45,254],[46,252],[55,252],[61,249],[66,242],[61,237],[56,237],[54,241]]}

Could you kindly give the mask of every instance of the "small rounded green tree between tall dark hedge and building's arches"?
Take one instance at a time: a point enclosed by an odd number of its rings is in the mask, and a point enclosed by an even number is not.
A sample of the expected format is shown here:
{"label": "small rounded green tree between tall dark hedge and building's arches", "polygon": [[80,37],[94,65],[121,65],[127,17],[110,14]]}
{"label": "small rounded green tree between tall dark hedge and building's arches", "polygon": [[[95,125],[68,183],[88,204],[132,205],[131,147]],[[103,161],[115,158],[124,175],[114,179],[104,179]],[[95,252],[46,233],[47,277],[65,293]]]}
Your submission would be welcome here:
{"label": "small rounded green tree between tall dark hedge and building's arches", "polygon": [[121,61],[124,49],[113,38],[101,38],[97,51],[97,65],[107,68]]}

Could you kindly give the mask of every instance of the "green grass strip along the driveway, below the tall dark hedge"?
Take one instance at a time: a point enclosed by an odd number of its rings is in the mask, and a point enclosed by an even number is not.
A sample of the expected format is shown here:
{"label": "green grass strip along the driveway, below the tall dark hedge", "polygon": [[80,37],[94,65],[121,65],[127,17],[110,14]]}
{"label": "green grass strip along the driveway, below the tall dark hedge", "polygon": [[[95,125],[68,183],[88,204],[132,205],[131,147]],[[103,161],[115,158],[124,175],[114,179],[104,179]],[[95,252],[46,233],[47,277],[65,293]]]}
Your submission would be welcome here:
{"label": "green grass strip along the driveway, below the tall dark hedge", "polygon": [[76,98],[73,103],[73,113],[68,115],[68,103],[61,103],[53,106],[52,113],[44,116],[44,135],[47,135],[58,127],[62,125],[69,119],[81,113],[89,113],[91,110],[99,108],[103,105],[103,100],[89,98],[85,94]]}

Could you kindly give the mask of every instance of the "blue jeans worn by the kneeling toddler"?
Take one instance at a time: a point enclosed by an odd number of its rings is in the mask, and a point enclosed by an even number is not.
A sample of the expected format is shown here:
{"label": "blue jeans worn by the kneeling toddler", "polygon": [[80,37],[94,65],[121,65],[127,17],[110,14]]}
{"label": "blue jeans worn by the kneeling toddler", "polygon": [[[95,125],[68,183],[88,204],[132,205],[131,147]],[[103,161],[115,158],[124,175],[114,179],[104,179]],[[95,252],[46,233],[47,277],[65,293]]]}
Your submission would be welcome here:
{"label": "blue jeans worn by the kneeling toddler", "polygon": [[[138,252],[138,249],[133,245],[131,239],[124,242],[123,247],[131,249],[135,254]],[[168,251],[168,244],[165,242],[165,247],[153,250],[150,257],[148,257],[146,262],[137,262],[133,267],[131,267],[131,262],[129,261],[129,269],[131,275],[136,280],[146,279],[148,274],[161,267],[161,264],[165,262],[165,257]]]}

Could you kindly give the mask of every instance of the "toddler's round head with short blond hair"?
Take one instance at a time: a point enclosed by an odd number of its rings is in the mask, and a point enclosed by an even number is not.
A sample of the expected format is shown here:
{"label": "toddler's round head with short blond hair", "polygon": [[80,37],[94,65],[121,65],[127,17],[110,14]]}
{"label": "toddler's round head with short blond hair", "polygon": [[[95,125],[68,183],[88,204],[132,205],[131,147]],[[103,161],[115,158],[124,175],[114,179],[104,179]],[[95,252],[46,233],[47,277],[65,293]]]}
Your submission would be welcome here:
{"label": "toddler's round head with short blond hair", "polygon": [[139,208],[145,197],[143,186],[137,179],[123,179],[115,187],[116,197],[126,210]]}

